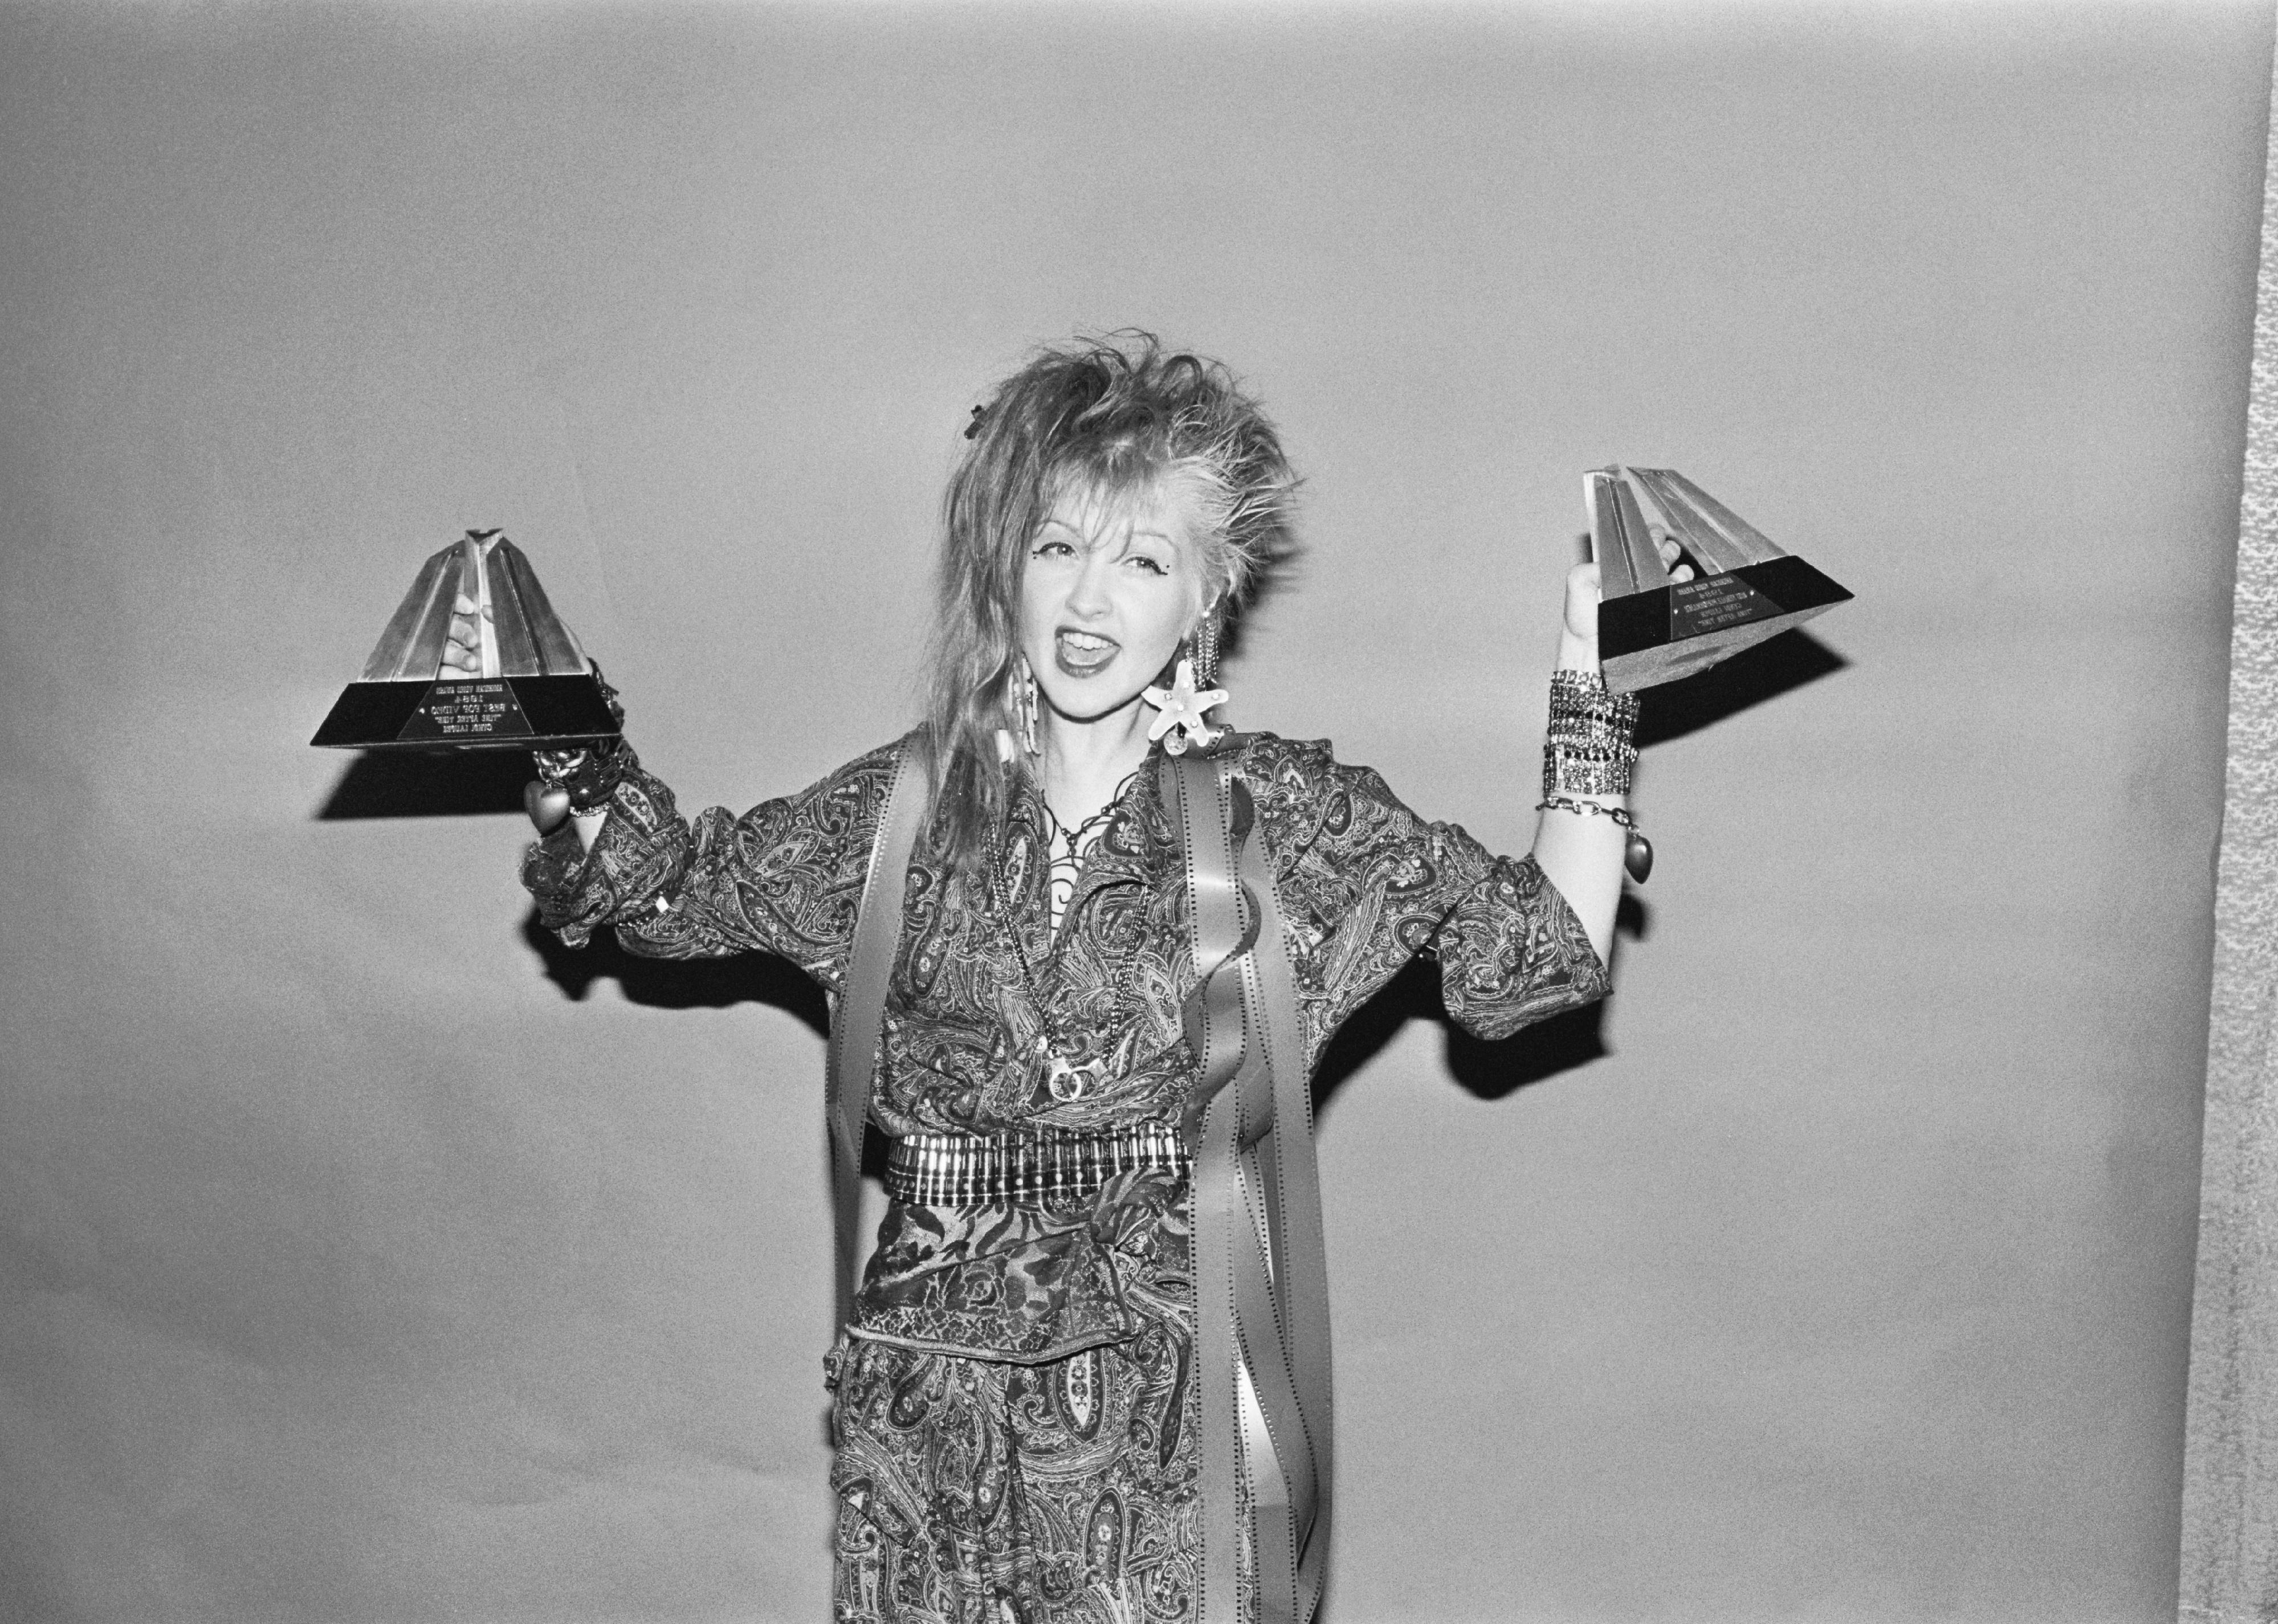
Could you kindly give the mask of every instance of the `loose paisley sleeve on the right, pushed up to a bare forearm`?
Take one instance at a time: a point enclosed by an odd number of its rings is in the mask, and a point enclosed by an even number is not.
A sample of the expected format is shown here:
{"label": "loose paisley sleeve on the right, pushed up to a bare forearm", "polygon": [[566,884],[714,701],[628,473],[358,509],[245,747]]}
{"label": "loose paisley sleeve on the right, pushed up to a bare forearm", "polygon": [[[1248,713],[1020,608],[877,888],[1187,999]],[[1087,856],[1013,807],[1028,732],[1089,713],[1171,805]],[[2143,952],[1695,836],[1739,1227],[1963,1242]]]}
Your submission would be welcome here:
{"label": "loose paisley sleeve on the right, pushed up to a bare forearm", "polygon": [[1253,749],[1298,995],[1314,1048],[1415,954],[1440,961],[1449,1016],[1483,1039],[1599,1000],[1606,966],[1533,856],[1426,822],[1324,743]]}

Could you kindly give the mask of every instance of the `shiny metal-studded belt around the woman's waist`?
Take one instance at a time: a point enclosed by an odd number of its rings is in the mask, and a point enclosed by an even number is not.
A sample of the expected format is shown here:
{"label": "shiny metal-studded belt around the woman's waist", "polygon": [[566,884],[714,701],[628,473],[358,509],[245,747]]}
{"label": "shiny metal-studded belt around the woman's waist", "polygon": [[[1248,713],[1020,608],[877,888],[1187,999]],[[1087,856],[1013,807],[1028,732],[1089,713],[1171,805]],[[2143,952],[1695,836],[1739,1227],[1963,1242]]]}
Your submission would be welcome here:
{"label": "shiny metal-studded belt around the woman's waist", "polygon": [[1109,1134],[911,1134],[886,1153],[886,1194],[923,1207],[1052,1205],[1098,1196],[1123,1173],[1187,1173],[1166,1123]]}

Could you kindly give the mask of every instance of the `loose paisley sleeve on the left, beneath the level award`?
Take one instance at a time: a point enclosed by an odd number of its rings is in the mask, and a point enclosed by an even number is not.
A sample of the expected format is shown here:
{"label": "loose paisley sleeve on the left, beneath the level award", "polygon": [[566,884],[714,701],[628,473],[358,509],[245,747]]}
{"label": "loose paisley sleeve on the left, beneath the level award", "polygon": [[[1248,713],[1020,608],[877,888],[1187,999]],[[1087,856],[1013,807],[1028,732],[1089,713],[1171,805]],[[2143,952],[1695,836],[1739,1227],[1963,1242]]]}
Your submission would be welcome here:
{"label": "loose paisley sleeve on the left, beneath the level award", "polygon": [[652,959],[761,950],[836,991],[893,761],[888,745],[797,795],[740,818],[711,806],[695,822],[636,763],[592,850],[563,825],[528,847],[522,884],[572,948],[615,927],[626,952]]}

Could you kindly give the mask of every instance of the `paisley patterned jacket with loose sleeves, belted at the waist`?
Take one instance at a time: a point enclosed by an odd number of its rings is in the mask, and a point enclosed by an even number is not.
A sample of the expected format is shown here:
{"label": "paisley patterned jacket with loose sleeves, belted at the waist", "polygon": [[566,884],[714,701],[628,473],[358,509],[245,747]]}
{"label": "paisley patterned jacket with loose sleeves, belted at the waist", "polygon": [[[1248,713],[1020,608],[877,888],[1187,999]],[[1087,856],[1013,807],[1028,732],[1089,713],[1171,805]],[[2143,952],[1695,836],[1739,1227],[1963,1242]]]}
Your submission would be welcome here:
{"label": "paisley patterned jacket with loose sleeves, belted at the waist", "polygon": [[[611,925],[629,952],[663,959],[765,950],[836,998],[893,761],[886,745],[797,795],[740,818],[713,806],[693,827],[636,768],[592,852],[565,825],[528,850],[524,884],[570,945]],[[1160,761],[1125,786],[1057,932],[1032,786],[995,852],[995,897],[920,838],[870,1105],[888,1134],[1180,1121],[1194,1073],[1180,1007],[1194,966]],[[1447,1009],[1478,1036],[1608,991],[1581,922],[1531,856],[1494,856],[1456,825],[1424,822],[1326,743],[1248,733],[1235,770],[1289,927],[1308,1064],[1417,952],[1440,959]],[[1046,1023],[1096,1080],[1075,1098],[1046,1082]],[[893,1203],[854,1335],[1021,1362],[1132,1337],[1155,1317],[1146,1305],[1180,1296],[1182,1196],[1182,1180],[1134,1173],[1075,1212]]]}

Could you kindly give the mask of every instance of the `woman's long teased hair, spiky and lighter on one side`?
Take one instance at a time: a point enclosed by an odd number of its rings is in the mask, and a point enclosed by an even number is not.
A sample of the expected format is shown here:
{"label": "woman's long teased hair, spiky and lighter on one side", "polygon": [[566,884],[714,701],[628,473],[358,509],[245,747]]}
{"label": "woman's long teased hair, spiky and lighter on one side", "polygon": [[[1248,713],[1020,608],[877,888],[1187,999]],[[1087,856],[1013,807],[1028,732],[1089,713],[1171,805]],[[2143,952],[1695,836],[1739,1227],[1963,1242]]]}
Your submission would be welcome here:
{"label": "woman's long teased hair, spiky and lighter on one side", "polygon": [[1203,601],[1239,615],[1289,553],[1296,476],[1257,401],[1214,360],[1164,353],[1153,333],[1039,351],[975,419],[941,503],[939,617],[925,745],[936,827],[959,868],[1005,818],[998,729],[1011,727],[1021,572],[1068,490],[1105,501],[1180,485],[1203,517]]}

